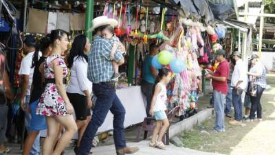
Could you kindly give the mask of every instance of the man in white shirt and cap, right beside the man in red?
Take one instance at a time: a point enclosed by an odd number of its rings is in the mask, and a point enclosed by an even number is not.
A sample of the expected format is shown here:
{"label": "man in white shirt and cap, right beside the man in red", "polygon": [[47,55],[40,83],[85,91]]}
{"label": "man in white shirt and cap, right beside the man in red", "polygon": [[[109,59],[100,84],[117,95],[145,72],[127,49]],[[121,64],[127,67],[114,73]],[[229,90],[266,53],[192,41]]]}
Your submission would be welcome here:
{"label": "man in white shirt and cap, right beside the man in red", "polygon": [[234,52],[234,59],[236,60],[236,65],[234,67],[234,71],[231,79],[231,87],[233,87],[232,91],[232,103],[234,106],[234,120],[230,121],[231,125],[241,125],[242,116],[242,102],[241,102],[241,94],[243,94],[243,90],[248,83],[248,76],[246,74],[248,70],[248,66],[241,60],[241,53]]}

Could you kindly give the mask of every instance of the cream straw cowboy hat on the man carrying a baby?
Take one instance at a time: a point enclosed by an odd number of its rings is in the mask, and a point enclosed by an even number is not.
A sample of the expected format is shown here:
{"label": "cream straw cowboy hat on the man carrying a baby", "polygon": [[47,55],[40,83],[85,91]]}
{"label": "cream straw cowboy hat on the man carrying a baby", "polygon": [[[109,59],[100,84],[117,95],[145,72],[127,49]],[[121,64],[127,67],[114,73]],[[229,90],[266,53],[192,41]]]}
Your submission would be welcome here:
{"label": "cream straw cowboy hat on the man carrying a baby", "polygon": [[111,25],[111,27],[116,27],[118,26],[118,21],[115,19],[109,19],[106,16],[100,16],[100,17],[96,17],[93,21],[93,27],[89,28],[89,30],[87,32],[92,32],[94,31],[96,28],[99,28],[102,25]]}

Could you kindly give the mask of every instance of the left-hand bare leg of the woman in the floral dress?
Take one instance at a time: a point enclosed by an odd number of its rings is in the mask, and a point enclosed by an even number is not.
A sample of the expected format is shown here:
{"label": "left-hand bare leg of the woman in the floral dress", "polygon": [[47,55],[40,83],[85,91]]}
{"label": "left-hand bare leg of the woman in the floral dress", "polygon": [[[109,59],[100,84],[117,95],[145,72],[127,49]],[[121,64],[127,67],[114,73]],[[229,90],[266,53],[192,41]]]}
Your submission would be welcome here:
{"label": "left-hand bare leg of the woman in the floral dress", "polygon": [[[42,154],[52,155],[52,148],[56,139],[56,133],[58,133],[59,123],[53,116],[46,116],[47,121],[47,137],[43,143]],[[60,155],[60,154],[58,154]]]}

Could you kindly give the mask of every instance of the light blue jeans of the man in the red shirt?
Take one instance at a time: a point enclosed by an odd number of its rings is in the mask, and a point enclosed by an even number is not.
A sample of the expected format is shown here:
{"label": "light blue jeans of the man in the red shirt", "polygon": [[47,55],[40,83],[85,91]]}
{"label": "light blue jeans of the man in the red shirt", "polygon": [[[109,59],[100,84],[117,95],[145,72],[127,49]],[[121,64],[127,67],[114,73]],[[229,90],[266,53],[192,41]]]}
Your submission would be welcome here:
{"label": "light blue jeans of the man in the red shirt", "polygon": [[214,96],[214,111],[216,113],[214,130],[217,130],[217,132],[224,132],[225,131],[225,126],[224,126],[225,94],[222,94],[221,92],[217,92],[217,90],[214,90],[213,96]]}

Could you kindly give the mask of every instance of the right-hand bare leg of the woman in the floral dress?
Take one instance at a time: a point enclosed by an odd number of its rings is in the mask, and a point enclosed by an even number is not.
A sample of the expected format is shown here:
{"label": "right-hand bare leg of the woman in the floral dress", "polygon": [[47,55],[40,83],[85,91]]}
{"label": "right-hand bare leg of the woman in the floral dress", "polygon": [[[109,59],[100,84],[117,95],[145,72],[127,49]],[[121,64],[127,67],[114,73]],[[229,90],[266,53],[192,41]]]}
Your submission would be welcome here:
{"label": "right-hand bare leg of the woman in the floral dress", "polygon": [[66,132],[62,134],[59,139],[56,149],[54,149],[53,155],[60,155],[63,149],[65,149],[67,143],[71,141],[74,134],[77,132],[76,122],[74,121],[74,117],[72,115],[67,116],[55,116],[56,121],[61,123],[63,127],[65,127]]}

